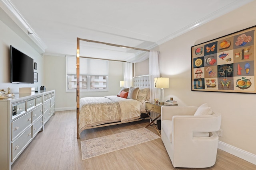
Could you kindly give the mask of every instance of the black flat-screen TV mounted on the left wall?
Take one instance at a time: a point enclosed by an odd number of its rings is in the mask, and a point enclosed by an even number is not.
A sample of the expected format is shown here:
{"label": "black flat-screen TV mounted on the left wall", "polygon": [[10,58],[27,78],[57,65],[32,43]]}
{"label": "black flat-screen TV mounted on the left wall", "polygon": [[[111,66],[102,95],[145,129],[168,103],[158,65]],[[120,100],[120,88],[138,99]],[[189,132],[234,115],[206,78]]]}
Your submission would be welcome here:
{"label": "black flat-screen TV mounted on the left wall", "polygon": [[11,45],[11,83],[34,83],[34,60]]}

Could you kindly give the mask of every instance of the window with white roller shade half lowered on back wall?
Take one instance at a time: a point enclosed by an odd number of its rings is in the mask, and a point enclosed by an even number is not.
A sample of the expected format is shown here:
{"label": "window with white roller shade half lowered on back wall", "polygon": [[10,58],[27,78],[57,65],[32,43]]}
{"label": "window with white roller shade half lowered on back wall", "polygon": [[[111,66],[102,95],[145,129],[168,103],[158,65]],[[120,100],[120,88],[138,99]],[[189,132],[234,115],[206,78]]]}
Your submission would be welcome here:
{"label": "window with white roller shade half lowered on back wall", "polygon": [[[76,91],[76,57],[66,56],[67,92]],[[108,90],[108,61],[80,58],[80,91]]]}

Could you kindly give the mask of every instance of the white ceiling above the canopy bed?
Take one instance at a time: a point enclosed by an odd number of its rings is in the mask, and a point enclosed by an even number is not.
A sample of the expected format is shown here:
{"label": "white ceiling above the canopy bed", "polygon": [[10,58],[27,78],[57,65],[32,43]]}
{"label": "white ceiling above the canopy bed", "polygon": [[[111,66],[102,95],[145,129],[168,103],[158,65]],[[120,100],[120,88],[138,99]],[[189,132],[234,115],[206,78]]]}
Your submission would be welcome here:
{"label": "white ceiling above the canopy bed", "polygon": [[[33,33],[28,36],[40,42],[45,55],[64,56],[76,55],[77,37],[152,49],[252,0],[1,1],[16,17],[11,18],[19,17],[19,25]],[[96,43],[81,43],[80,53],[130,61],[143,54]]]}

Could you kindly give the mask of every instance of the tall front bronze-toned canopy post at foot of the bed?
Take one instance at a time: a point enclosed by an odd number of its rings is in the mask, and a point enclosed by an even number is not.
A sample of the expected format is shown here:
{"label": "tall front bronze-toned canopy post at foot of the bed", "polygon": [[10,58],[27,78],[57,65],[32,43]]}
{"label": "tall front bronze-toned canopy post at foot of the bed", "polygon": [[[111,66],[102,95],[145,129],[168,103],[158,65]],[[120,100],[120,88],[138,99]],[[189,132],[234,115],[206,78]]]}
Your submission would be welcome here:
{"label": "tall front bronze-toned canopy post at foot of the bed", "polygon": [[79,136],[79,109],[80,109],[80,70],[79,64],[80,63],[80,38],[76,38],[76,135],[77,139],[80,138]]}

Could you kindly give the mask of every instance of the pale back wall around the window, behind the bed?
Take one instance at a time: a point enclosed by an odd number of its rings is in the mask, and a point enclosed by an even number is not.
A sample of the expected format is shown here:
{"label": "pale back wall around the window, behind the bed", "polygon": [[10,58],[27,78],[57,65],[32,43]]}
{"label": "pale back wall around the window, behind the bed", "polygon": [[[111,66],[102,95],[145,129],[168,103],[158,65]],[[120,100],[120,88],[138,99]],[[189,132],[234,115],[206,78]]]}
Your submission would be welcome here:
{"label": "pale back wall around the window, behind the bed", "polygon": [[[109,61],[108,92],[80,92],[80,98],[118,94],[124,79],[122,70],[122,62]],[[44,55],[44,82],[46,90],[55,89],[56,111],[76,109],[76,92],[66,92],[66,57]]]}

